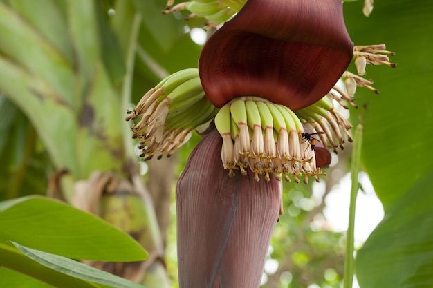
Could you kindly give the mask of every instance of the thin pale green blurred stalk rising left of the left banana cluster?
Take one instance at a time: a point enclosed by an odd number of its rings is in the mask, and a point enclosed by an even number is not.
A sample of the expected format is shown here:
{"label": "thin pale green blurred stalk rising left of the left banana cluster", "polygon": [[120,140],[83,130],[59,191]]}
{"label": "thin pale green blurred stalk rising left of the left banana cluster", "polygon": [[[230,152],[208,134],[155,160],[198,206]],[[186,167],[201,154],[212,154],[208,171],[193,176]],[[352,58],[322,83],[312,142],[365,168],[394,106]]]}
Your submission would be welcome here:
{"label": "thin pale green blurred stalk rising left of the left banana cluster", "polygon": [[125,79],[123,80],[122,87],[122,119],[121,121],[124,123],[125,128],[123,129],[123,144],[125,146],[125,152],[127,157],[133,158],[133,143],[132,143],[132,135],[131,129],[129,128],[129,124],[125,121],[126,111],[128,109],[129,104],[131,103],[131,95],[132,95],[132,81],[133,81],[133,69],[134,69],[134,60],[136,57],[136,49],[137,49],[137,38],[138,32],[140,31],[142,16],[140,13],[136,13],[133,17],[132,27],[131,27],[131,38],[129,39],[129,46],[127,50],[127,73],[125,75]]}

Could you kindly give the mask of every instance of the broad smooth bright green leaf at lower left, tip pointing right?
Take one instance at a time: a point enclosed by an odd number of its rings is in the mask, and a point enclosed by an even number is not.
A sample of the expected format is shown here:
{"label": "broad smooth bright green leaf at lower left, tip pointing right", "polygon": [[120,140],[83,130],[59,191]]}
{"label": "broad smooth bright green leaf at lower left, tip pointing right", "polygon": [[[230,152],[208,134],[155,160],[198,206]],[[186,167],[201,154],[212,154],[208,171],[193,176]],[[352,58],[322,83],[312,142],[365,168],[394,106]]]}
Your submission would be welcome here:
{"label": "broad smooth bright green leaf at lower left, tip pointing right", "polygon": [[68,204],[41,197],[0,202],[0,239],[75,259],[138,261],[147,257],[125,233]]}

